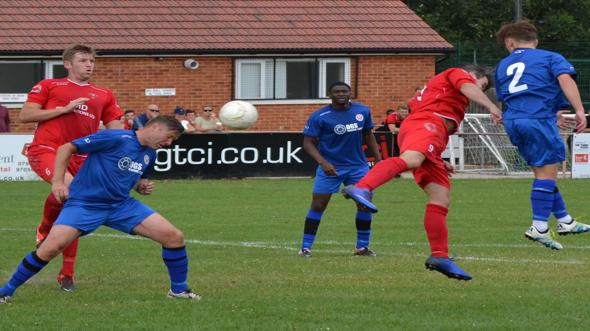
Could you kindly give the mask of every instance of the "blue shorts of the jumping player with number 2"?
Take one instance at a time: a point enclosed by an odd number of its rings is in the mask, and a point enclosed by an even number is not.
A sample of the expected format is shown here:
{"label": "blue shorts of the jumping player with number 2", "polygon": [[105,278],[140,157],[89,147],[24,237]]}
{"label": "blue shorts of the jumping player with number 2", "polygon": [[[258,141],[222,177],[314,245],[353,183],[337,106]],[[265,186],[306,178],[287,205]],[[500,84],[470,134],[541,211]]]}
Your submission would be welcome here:
{"label": "blue shorts of the jumping player with number 2", "polygon": [[534,167],[565,161],[565,145],[556,117],[504,120],[506,133],[526,164]]}

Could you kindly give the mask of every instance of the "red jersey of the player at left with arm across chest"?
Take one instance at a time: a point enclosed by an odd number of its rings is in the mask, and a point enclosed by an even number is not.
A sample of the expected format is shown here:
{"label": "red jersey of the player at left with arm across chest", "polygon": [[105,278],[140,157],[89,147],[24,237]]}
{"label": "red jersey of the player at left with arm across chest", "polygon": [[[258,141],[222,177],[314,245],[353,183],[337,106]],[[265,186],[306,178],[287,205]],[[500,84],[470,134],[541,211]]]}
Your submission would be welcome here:
{"label": "red jersey of the player at left with arm across chest", "polygon": [[40,81],[29,92],[27,102],[40,104],[42,109],[56,109],[77,98],[90,100],[67,114],[40,122],[30,146],[42,145],[57,150],[65,143],[98,131],[100,121],[109,123],[123,116],[113,92],[92,84],[80,85],[67,78]]}

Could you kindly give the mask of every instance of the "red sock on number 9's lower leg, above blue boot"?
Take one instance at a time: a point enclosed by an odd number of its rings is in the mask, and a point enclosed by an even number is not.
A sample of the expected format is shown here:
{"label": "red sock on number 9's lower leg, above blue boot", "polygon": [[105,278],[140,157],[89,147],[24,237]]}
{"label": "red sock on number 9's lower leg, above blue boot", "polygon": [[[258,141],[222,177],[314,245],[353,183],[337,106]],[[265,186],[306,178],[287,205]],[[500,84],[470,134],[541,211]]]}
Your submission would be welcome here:
{"label": "red sock on number 9's lower leg, above blue boot", "polygon": [[448,259],[447,213],[448,208],[429,203],[424,214],[424,229],[430,243],[430,251],[432,255],[445,259]]}

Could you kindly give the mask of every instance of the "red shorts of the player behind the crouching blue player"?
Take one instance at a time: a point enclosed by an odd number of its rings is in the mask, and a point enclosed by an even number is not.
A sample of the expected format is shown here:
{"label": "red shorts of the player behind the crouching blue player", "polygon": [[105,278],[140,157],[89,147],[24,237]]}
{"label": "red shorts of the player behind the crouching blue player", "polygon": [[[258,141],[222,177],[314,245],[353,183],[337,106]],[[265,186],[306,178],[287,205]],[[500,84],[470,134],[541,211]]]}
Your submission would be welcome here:
{"label": "red shorts of the player behind the crouching blue player", "polygon": [[[29,164],[35,174],[43,178],[47,183],[51,183],[53,178],[53,166],[55,164],[55,154],[57,150],[50,147],[41,147],[39,145],[29,147],[27,150],[27,158]],[[76,176],[78,170],[86,160],[85,156],[74,154],[70,158],[70,163],[65,169],[66,173],[70,173],[72,176]]]}

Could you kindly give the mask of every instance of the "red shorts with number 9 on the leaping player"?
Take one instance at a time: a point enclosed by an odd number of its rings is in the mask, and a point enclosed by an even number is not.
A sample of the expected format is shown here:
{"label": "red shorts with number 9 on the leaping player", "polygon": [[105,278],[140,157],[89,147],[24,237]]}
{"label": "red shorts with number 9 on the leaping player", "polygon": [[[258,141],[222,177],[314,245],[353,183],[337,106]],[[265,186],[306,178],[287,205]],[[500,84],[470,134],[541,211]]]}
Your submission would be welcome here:
{"label": "red shorts with number 9 on the leaping player", "polygon": [[398,135],[399,154],[411,150],[426,155],[422,165],[412,170],[419,187],[424,188],[427,184],[435,183],[451,189],[451,182],[441,158],[447,143],[447,125],[440,116],[430,112],[418,112],[404,120]]}

